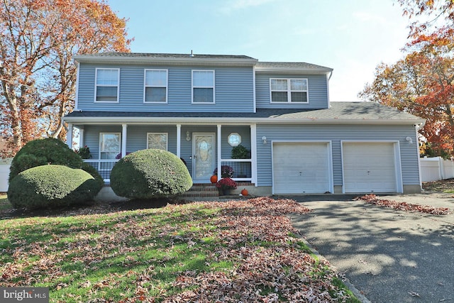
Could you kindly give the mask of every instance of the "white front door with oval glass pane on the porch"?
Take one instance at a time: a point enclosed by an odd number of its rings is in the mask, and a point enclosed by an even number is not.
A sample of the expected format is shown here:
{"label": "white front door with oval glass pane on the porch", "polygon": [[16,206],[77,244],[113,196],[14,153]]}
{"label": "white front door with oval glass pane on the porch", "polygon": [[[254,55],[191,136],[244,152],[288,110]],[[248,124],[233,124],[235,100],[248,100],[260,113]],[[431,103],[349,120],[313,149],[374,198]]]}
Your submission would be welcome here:
{"label": "white front door with oval glass pane on the porch", "polygon": [[192,142],[192,180],[209,182],[215,166],[214,133],[193,133]]}

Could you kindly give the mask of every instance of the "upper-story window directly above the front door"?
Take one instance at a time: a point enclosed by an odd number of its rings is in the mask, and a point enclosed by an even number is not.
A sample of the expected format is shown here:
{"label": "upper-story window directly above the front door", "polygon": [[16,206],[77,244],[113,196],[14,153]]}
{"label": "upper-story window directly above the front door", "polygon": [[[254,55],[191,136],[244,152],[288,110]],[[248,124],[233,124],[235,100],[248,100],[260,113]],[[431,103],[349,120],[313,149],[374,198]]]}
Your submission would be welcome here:
{"label": "upper-story window directly above the front door", "polygon": [[214,104],[214,70],[192,71],[192,103]]}

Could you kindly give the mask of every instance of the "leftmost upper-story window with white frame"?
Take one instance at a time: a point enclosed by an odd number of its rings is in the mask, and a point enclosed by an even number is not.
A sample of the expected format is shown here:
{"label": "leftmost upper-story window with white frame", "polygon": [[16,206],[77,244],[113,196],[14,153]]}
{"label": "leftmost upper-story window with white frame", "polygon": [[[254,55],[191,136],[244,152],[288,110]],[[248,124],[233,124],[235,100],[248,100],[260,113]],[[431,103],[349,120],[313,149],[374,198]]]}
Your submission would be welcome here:
{"label": "leftmost upper-story window with white frame", "polygon": [[120,69],[96,68],[95,102],[118,102]]}

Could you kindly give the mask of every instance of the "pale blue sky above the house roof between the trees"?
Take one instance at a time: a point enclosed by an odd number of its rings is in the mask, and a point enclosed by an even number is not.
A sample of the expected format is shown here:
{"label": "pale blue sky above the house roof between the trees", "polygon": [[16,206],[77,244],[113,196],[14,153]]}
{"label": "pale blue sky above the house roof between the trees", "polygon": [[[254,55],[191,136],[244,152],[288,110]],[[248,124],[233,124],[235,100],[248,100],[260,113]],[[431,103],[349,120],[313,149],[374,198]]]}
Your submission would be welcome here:
{"label": "pale blue sky above the house roof between the trees", "polygon": [[108,0],[135,53],[248,55],[334,69],[331,101],[358,101],[380,62],[403,57],[393,0]]}

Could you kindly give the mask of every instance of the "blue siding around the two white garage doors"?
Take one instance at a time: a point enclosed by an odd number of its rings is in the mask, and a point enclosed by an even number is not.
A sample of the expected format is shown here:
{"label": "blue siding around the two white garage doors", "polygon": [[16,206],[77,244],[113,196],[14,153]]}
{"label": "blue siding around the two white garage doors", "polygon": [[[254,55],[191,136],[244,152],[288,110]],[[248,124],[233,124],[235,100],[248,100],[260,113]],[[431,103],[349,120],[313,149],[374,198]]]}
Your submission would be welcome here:
{"label": "blue siding around the two white garage doors", "polygon": [[[267,137],[267,144],[262,143]],[[409,144],[405,138],[413,139]],[[257,126],[258,185],[272,185],[272,141],[331,141],[333,182],[342,185],[341,141],[399,141],[403,184],[419,184],[418,147],[413,126]],[[371,159],[373,161],[373,159]]]}

